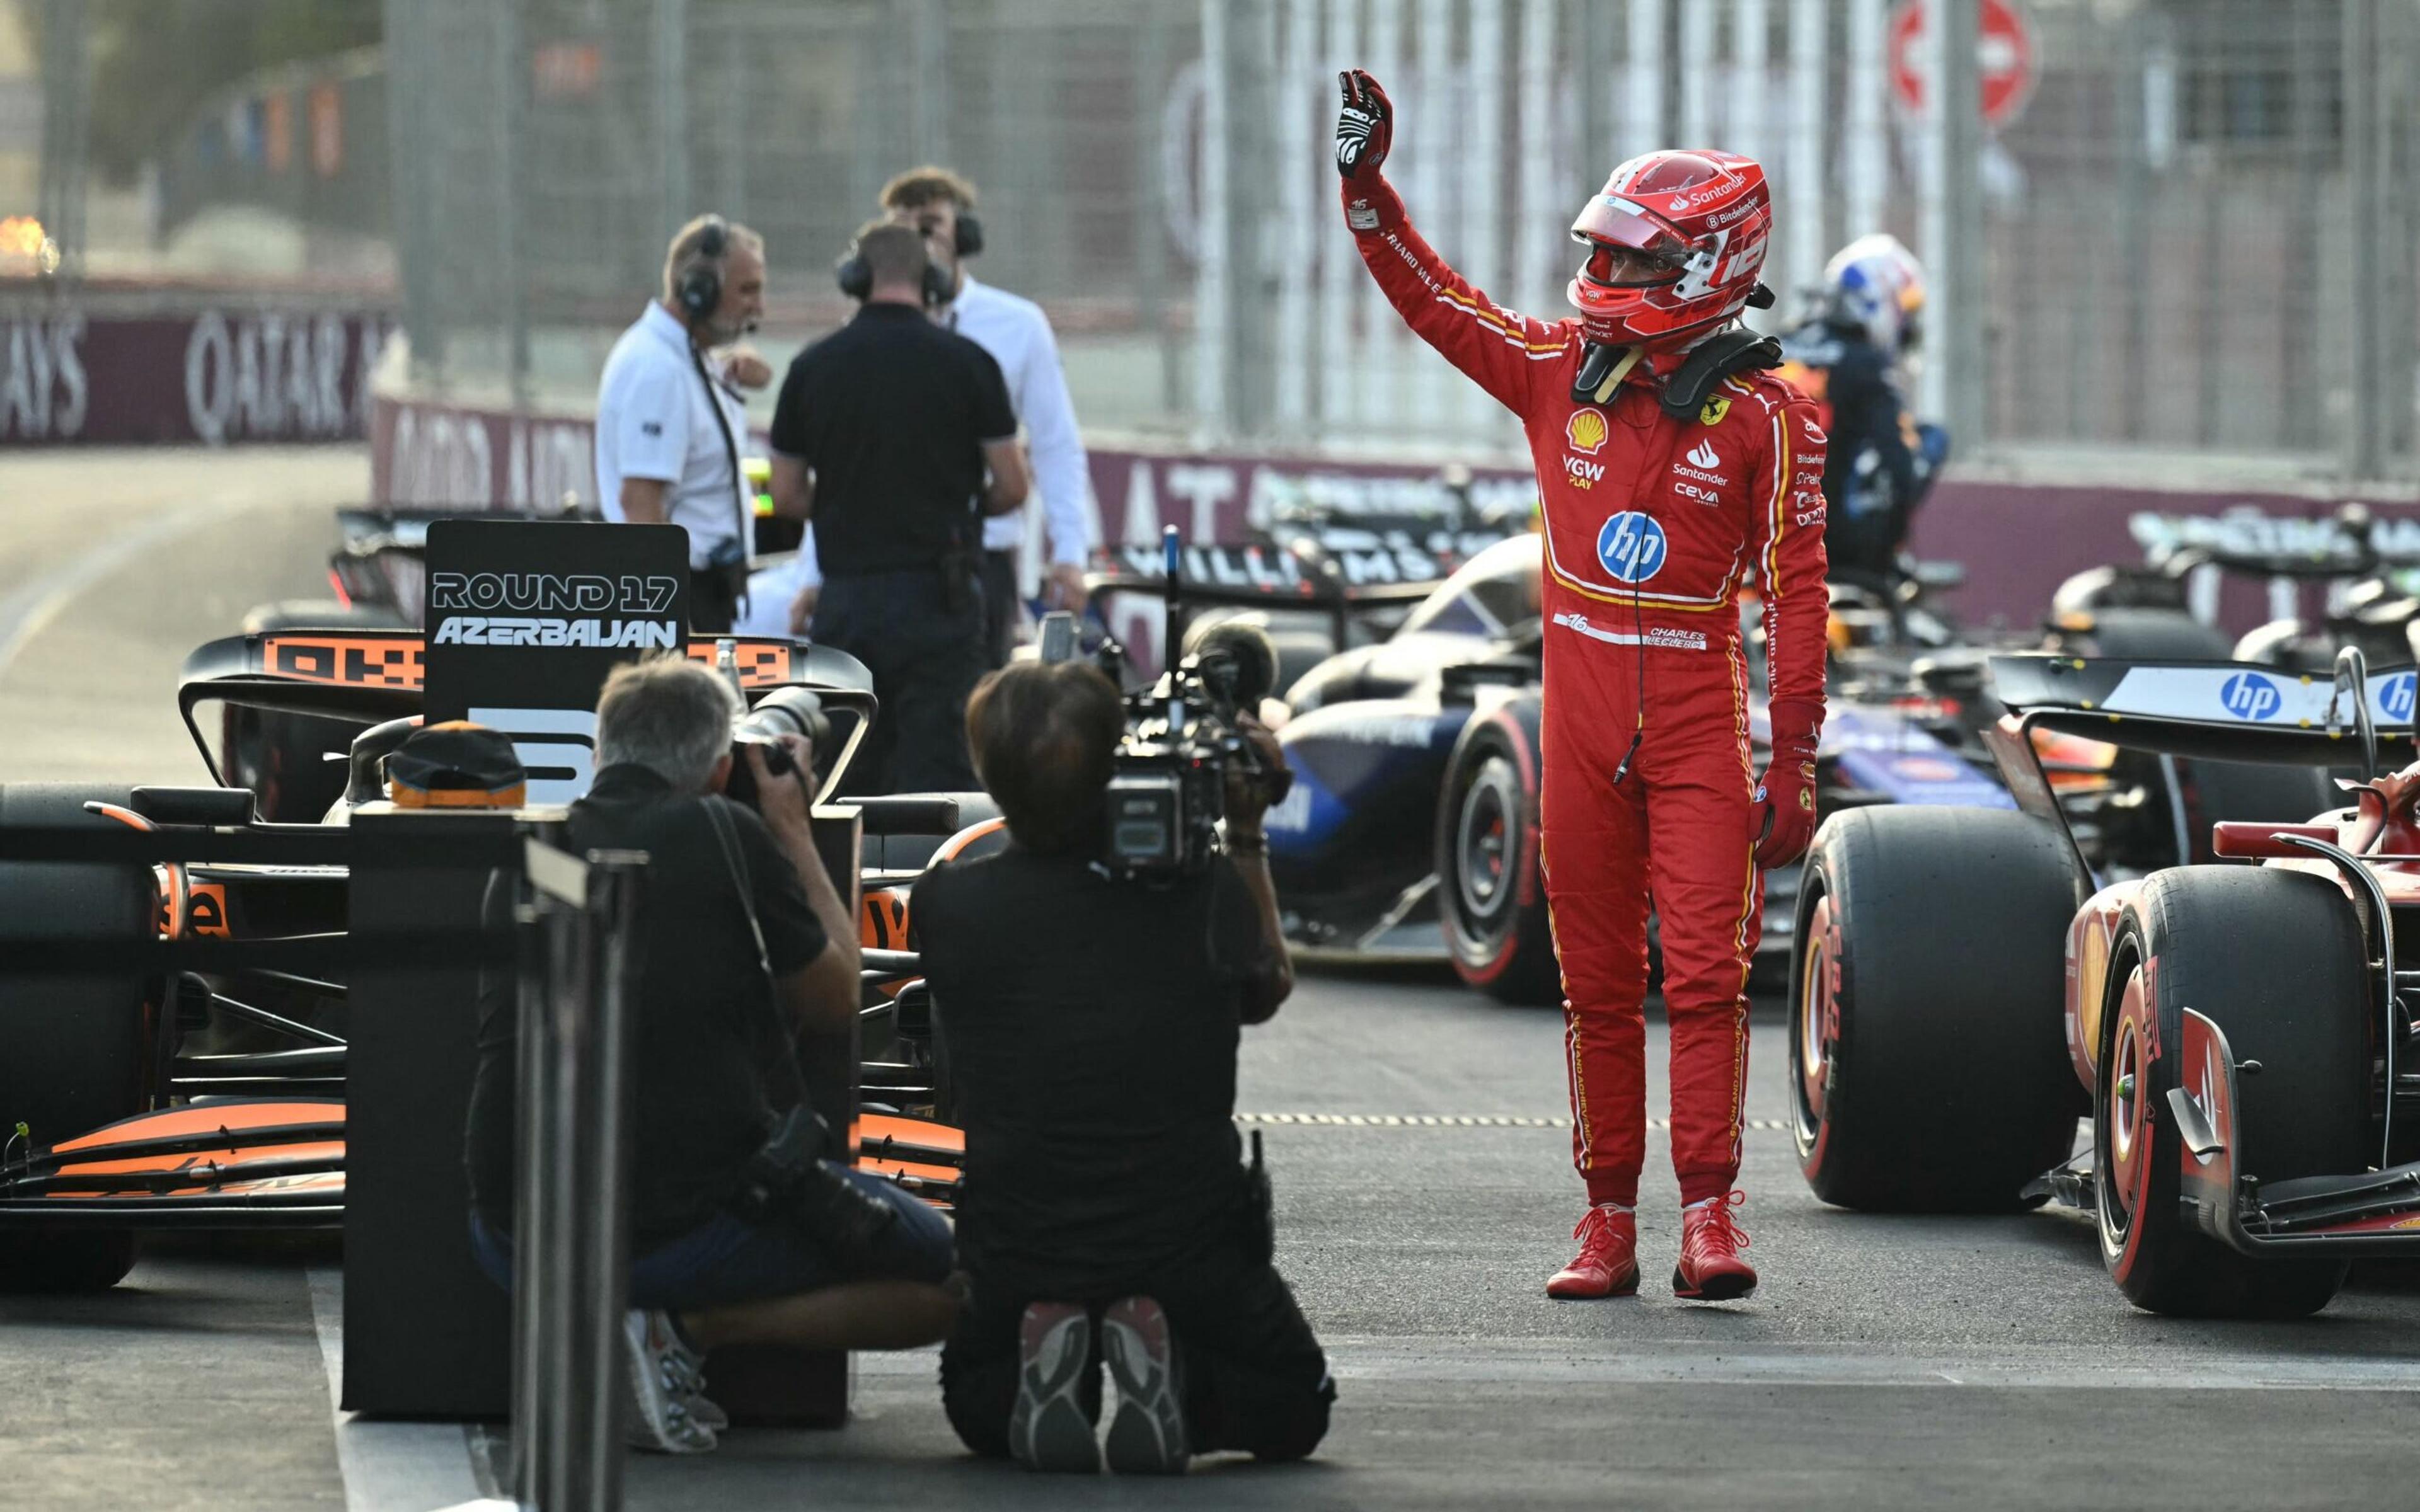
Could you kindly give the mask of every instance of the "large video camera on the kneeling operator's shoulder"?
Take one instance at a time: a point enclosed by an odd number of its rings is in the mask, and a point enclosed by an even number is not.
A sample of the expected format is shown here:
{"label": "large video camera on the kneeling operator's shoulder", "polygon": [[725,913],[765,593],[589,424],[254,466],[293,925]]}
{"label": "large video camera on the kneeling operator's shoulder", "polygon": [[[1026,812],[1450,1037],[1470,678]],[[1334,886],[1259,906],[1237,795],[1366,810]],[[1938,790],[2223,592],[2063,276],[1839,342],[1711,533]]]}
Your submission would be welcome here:
{"label": "large video camera on the kneeling operator's shoulder", "polygon": [[[1217,622],[1179,634],[1181,542],[1162,537],[1169,573],[1166,646],[1183,660],[1140,692],[1125,694],[1125,733],[1108,779],[1108,866],[1140,881],[1193,876],[1217,854],[1227,815],[1227,774],[1241,772],[1268,803],[1295,786],[1244,738],[1239,716],[1256,714],[1275,689],[1278,653],[1254,624]],[[1045,660],[1067,636],[1043,634]]]}

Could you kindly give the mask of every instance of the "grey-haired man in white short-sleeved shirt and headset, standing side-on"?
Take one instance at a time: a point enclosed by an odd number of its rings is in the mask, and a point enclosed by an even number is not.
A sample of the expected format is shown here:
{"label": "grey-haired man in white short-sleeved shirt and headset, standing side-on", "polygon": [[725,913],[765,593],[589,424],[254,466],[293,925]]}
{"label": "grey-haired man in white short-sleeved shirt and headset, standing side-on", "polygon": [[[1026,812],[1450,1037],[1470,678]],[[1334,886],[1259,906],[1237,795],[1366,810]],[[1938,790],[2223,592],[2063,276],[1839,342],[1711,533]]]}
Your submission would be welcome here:
{"label": "grey-haired man in white short-sleeved shirt and headset, standing side-on", "polygon": [[607,520],[673,523],[690,532],[690,629],[731,629],[745,588],[753,513],[738,455],[748,411],[716,346],[765,314],[765,240],[721,215],[680,227],[663,256],[663,290],[622,331],[598,380],[598,506]]}

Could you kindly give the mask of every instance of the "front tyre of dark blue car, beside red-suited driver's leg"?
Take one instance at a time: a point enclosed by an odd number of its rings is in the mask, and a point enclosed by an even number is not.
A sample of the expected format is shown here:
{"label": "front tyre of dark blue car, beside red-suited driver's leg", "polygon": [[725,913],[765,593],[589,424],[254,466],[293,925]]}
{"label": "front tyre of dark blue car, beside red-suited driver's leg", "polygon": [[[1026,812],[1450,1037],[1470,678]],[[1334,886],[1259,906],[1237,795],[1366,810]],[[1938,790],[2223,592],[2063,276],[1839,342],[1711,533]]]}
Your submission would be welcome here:
{"label": "front tyre of dark blue car, beside red-suited driver's leg", "polygon": [[1539,871],[1537,704],[1471,719],[1437,793],[1437,919],[1454,973],[1508,1004],[1563,1002]]}

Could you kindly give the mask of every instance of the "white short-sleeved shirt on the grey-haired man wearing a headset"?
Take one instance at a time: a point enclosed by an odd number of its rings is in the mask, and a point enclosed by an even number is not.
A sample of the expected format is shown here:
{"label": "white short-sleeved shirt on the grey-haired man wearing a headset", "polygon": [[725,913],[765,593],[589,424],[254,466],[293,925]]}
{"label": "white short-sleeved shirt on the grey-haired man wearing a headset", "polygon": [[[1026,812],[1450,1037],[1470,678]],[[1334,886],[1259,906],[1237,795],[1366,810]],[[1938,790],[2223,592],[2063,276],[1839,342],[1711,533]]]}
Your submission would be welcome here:
{"label": "white short-sleeved shirt on the grey-haired man wearing a headset", "polygon": [[741,527],[748,503],[711,406],[721,404],[741,455],[748,455],[748,411],[711,360],[707,373],[716,382],[699,377],[680,319],[649,300],[646,314],[612,344],[598,380],[598,508],[620,523],[622,479],[670,484],[663,518],[687,527],[690,566],[707,566],[721,542],[748,544]]}

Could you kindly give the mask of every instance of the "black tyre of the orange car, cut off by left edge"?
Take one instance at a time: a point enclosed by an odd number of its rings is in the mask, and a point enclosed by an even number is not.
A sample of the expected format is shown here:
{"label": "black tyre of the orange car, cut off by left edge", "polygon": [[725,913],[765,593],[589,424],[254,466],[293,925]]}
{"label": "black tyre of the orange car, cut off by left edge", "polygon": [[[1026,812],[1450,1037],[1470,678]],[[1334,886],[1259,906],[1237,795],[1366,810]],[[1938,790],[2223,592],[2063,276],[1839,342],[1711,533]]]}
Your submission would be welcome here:
{"label": "black tyre of the orange car, cut off by left edge", "polygon": [[[114,827],[87,801],[119,803],[126,789],[73,784],[0,786],[0,827]],[[126,941],[160,929],[160,888],[148,866],[0,861],[0,963],[10,941]],[[155,1062],[155,982],[138,970],[51,975],[0,965],[0,1139],[12,1154],[46,1149],[145,1108]],[[136,1260],[123,1229],[29,1229],[0,1219],[0,1292],[114,1287]]]}

